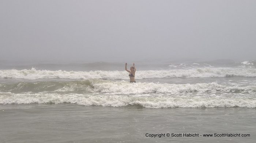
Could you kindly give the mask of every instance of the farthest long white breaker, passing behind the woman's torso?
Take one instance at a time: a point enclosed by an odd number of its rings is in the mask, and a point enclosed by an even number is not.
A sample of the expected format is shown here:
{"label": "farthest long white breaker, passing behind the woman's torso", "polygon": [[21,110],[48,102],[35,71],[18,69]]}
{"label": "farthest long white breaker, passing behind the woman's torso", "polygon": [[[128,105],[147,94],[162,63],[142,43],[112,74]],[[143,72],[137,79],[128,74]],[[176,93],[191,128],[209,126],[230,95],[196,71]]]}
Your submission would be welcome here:
{"label": "farthest long white breaker, passing behind the woman's torso", "polygon": [[[197,68],[159,71],[137,71],[136,79],[148,78],[216,78],[227,76],[256,77],[256,69],[243,68]],[[126,71],[48,71],[31,69],[0,70],[0,78],[5,79],[122,79],[127,80]]]}

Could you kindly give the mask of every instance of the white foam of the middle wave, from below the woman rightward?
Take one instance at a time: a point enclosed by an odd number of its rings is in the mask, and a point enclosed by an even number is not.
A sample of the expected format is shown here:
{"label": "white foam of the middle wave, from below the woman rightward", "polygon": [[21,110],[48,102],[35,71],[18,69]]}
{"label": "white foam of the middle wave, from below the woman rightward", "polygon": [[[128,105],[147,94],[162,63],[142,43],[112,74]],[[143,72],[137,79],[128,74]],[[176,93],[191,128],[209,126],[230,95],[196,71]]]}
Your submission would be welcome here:
{"label": "white foam of the middle wave, from below the woman rightward", "polygon": [[230,86],[218,83],[196,84],[160,84],[160,83],[136,83],[122,82],[92,82],[93,90],[111,94],[144,94],[144,93],[193,93],[193,92],[247,92],[255,93],[256,86]]}

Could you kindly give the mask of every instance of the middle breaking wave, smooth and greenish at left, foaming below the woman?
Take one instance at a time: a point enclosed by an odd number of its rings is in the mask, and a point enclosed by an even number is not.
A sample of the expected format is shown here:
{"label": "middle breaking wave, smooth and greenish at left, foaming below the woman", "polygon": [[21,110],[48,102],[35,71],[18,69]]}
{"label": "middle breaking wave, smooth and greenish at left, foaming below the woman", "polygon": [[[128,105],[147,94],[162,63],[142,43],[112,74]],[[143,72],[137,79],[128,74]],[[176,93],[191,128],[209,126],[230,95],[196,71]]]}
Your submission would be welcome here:
{"label": "middle breaking wave, smooth and greenish at left, foaming below the woman", "polygon": [[80,80],[69,82],[19,82],[0,84],[0,92],[48,92],[55,93],[108,93],[108,94],[147,94],[147,93],[197,93],[197,92],[228,92],[255,93],[255,85],[238,86],[213,83],[167,84],[167,83],[129,83],[124,80]]}

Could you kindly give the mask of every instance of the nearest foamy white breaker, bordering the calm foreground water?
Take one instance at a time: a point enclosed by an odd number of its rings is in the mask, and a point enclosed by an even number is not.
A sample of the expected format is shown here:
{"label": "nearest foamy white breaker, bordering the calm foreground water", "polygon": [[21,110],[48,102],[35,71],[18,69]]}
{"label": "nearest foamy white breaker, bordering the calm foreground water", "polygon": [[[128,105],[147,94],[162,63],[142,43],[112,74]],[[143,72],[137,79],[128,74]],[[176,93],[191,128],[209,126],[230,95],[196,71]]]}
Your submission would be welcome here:
{"label": "nearest foamy white breaker, bordering the calm foreground water", "polygon": [[12,94],[0,93],[0,104],[75,103],[84,106],[129,106],[146,108],[173,107],[247,107],[255,108],[256,99],[251,97],[230,98],[226,96],[150,96],[150,95],[59,95],[59,94]]}

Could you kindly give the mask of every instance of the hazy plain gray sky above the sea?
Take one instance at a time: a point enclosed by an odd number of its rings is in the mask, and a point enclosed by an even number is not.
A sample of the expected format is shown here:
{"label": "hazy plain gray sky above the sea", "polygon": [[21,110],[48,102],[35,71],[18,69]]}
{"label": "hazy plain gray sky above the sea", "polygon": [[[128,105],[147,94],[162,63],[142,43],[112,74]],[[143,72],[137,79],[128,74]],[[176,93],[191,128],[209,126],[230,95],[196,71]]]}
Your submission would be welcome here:
{"label": "hazy plain gray sky above the sea", "polygon": [[0,60],[255,60],[255,0],[1,0]]}

